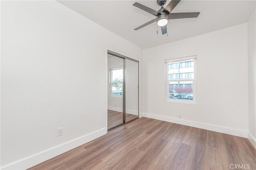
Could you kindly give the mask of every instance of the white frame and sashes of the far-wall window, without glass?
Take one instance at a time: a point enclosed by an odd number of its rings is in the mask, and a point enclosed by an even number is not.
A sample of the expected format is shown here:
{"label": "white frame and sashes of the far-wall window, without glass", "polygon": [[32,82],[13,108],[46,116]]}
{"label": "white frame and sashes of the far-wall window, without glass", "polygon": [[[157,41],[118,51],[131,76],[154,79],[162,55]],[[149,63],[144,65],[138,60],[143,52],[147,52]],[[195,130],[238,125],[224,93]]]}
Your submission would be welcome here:
{"label": "white frame and sashes of the far-wall window, without glass", "polygon": [[[188,104],[196,104],[196,55],[188,56],[188,57],[180,57],[180,58],[174,58],[174,59],[166,59],[165,60],[165,100],[167,102],[173,102],[173,103],[188,103]],[[168,79],[169,77],[169,69],[168,69],[168,64],[172,62],[180,62],[180,61],[186,61],[194,59],[194,79]],[[178,66],[180,67],[180,66]],[[179,76],[179,75],[178,75]],[[170,99],[169,98],[169,82],[173,81],[192,81],[193,82],[193,100],[185,100],[185,99]]]}

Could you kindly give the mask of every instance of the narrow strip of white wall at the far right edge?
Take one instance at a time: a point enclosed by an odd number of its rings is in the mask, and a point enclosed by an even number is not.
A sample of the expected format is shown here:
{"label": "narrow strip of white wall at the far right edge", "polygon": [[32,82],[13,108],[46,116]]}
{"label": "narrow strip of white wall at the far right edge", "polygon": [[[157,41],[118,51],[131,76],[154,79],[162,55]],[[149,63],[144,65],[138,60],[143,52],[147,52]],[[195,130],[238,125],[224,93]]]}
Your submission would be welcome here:
{"label": "narrow strip of white wall at the far right edge", "polygon": [[248,138],[256,148],[256,22],[255,10],[248,20],[248,101],[249,133]]}

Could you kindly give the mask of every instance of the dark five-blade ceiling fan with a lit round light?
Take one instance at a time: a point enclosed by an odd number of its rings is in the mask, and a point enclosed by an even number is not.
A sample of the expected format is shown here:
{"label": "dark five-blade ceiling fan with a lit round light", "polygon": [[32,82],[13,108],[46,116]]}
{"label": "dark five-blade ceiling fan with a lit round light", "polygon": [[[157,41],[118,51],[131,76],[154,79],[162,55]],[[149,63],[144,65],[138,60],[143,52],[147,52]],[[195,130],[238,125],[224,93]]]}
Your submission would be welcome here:
{"label": "dark five-blade ceiling fan with a lit round light", "polygon": [[152,24],[154,22],[157,22],[157,25],[161,27],[162,34],[167,33],[167,26],[168,20],[172,19],[180,19],[180,18],[197,18],[200,12],[181,12],[181,13],[171,13],[172,10],[178,5],[180,0],[171,0],[171,2],[164,8],[164,4],[167,0],[157,0],[156,3],[161,6],[160,10],[156,11],[151,8],[148,8],[147,6],[144,6],[138,2],[135,2],[133,6],[136,6],[137,8],[140,8],[141,10],[144,10],[154,16],[156,18],[154,20],[151,20],[147,22],[146,24],[143,24],[142,26],[139,26],[135,28],[134,30],[139,30],[140,28],[143,28],[149,24]]}

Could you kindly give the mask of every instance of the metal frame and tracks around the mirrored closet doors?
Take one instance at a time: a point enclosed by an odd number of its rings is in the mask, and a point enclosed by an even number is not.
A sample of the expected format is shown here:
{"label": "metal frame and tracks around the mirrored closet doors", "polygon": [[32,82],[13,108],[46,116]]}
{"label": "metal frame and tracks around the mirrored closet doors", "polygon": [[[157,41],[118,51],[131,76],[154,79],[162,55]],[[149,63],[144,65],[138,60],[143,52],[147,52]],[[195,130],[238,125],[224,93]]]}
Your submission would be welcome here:
{"label": "metal frame and tracks around the mirrored closet doors", "polygon": [[[138,119],[140,117],[140,61],[138,61],[136,59],[132,59],[130,57],[126,57],[124,55],[118,54],[118,53],[116,53],[114,51],[110,51],[110,50],[107,51],[107,55],[108,54],[114,55],[116,57],[124,59],[124,65],[123,65],[123,67],[124,67],[124,69],[123,69],[123,123],[120,124],[120,125],[117,125],[116,127],[108,129],[108,131],[109,131],[109,130],[113,130],[114,128],[122,126],[124,123],[128,123],[128,122],[133,121],[135,119]],[[125,76],[125,72],[126,72],[126,59],[129,59],[131,61],[135,61],[135,62],[138,63],[138,74],[139,74],[138,75],[138,117],[135,118],[135,119],[132,119],[130,121],[127,121],[127,122],[126,122],[126,105],[125,105],[126,104],[126,89],[125,89],[125,83],[126,83],[126,76]],[[107,105],[108,105],[108,103],[107,103]],[[107,113],[108,113],[108,111],[107,111]],[[106,118],[108,119],[108,115],[106,116]],[[108,125],[108,120],[107,120],[107,125]]]}

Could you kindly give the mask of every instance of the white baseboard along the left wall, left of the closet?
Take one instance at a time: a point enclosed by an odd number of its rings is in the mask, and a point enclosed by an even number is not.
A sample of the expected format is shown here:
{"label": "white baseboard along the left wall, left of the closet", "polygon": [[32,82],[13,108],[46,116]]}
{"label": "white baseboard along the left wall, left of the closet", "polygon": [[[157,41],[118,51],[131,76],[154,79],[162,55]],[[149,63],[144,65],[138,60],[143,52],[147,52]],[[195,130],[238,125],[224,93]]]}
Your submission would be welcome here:
{"label": "white baseboard along the left wall, left of the closet", "polygon": [[102,128],[100,130],[97,130],[95,132],[86,134],[84,136],[81,136],[80,138],[76,138],[74,140],[71,140],[69,142],[66,142],[64,144],[61,144],[59,146],[55,146],[53,148],[50,148],[48,150],[44,150],[40,153],[34,154],[32,156],[29,156],[27,158],[24,158],[22,160],[18,160],[16,162],[13,162],[12,164],[6,165],[4,167],[1,167],[0,169],[5,170],[24,170],[28,169],[32,166],[35,166],[37,164],[40,164],[50,158],[53,158],[55,156],[58,156],[64,152],[67,152],[68,150],[74,149],[82,144],[85,144],[87,142],[90,142],[91,140],[94,140],[104,134],[107,133],[106,128]]}

